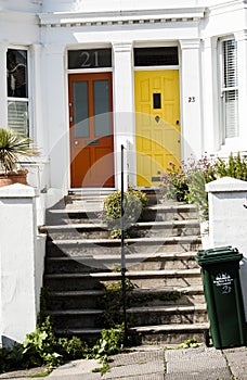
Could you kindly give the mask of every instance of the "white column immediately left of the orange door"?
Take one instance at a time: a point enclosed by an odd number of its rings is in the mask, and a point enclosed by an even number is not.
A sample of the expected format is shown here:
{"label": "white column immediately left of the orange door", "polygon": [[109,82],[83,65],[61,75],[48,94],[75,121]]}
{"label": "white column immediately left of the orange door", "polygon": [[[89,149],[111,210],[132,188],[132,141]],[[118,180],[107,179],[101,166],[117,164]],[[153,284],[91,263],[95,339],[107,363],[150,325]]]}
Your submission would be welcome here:
{"label": "white column immediately left of the orange door", "polygon": [[65,49],[46,45],[42,49],[42,112],[46,140],[49,141],[51,187],[65,194],[69,176],[69,128]]}

